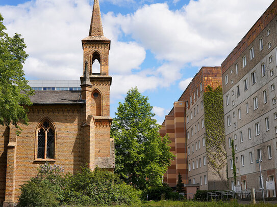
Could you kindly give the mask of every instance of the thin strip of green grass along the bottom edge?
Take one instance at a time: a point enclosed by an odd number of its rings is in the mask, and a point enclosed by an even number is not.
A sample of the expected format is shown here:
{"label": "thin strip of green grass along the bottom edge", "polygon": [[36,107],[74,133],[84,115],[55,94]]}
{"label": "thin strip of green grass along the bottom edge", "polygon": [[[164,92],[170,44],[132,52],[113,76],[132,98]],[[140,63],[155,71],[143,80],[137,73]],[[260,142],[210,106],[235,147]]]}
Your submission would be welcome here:
{"label": "thin strip of green grass along the bottom edge", "polygon": [[[236,201],[211,201],[211,202],[197,202],[197,201],[143,201],[140,204],[135,205],[112,205],[112,207],[273,207],[277,206],[276,204],[270,203],[258,203],[256,205],[253,204],[238,204]],[[73,206],[67,206],[73,207]],[[106,206],[107,207],[107,206]]]}

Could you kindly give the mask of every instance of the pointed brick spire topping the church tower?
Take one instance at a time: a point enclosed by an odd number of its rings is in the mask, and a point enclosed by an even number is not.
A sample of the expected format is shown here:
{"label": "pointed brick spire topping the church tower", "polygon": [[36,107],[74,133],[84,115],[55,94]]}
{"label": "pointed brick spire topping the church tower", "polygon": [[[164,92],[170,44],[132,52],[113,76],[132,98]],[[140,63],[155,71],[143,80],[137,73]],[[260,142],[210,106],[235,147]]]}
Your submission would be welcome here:
{"label": "pointed brick spire topping the church tower", "polygon": [[99,7],[99,0],[94,0],[92,17],[90,22],[90,29],[88,36],[104,36],[103,27],[102,27],[102,19]]}

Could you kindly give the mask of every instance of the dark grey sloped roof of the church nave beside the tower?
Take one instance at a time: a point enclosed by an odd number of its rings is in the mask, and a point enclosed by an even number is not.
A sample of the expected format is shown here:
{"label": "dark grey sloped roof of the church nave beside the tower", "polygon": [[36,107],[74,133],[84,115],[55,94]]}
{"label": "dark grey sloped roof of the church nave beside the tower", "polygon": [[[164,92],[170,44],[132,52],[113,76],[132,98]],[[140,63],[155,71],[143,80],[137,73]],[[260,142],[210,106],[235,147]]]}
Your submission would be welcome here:
{"label": "dark grey sloped roof of the church nave beside the tower", "polygon": [[81,91],[35,91],[30,100],[33,105],[85,104],[85,100],[81,99]]}

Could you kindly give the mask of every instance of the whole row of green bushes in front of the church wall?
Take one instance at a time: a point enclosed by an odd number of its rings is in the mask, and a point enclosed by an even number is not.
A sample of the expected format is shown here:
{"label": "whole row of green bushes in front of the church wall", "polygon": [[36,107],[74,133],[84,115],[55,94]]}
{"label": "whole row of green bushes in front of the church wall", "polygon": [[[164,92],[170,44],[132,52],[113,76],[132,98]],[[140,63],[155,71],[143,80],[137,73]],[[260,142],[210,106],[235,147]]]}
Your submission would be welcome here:
{"label": "whole row of green bushes in front of the church wall", "polygon": [[112,205],[140,202],[140,191],[125,184],[113,172],[81,168],[77,174],[63,174],[63,169],[49,163],[20,188],[19,206]]}

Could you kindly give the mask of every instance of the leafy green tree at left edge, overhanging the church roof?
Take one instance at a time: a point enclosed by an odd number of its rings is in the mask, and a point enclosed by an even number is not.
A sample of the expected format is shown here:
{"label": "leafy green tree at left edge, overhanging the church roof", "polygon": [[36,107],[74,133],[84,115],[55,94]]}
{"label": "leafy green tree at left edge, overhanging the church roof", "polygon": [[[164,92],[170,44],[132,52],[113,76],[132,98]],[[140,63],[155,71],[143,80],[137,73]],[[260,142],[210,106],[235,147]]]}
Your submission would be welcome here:
{"label": "leafy green tree at left edge, overhanging the church roof", "polygon": [[21,128],[17,125],[22,122],[28,125],[26,106],[32,105],[29,95],[32,88],[24,78],[23,63],[28,54],[24,51],[26,45],[19,34],[9,37],[3,17],[0,14],[0,125],[15,125],[17,134]]}

